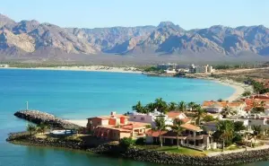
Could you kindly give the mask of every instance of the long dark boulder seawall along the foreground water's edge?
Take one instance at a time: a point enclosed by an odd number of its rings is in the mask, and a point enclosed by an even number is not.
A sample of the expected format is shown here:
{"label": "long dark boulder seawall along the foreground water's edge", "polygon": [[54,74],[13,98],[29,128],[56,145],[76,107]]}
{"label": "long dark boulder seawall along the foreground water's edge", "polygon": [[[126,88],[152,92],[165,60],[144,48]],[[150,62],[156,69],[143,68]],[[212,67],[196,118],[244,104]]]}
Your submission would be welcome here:
{"label": "long dark boulder seawall along the foreground water's edge", "polygon": [[162,164],[175,164],[184,166],[222,166],[237,165],[241,163],[259,162],[269,160],[269,149],[247,151],[242,153],[222,154],[218,156],[190,156],[178,153],[165,153],[136,148],[125,149],[117,144],[101,144],[98,147],[86,146],[83,142],[66,140],[39,139],[32,136],[10,136],[7,141],[15,144],[38,146],[65,147],[86,150],[91,153],[105,154],[114,157],[123,157],[142,162],[155,162]]}

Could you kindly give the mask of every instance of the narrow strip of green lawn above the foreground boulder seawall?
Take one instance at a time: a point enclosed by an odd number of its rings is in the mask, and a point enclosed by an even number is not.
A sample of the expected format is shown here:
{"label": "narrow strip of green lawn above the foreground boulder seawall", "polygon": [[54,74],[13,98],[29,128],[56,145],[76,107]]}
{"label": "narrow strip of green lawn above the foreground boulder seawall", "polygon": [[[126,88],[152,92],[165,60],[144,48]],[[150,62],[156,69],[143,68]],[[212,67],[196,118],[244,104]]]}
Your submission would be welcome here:
{"label": "narrow strip of green lawn above the foreground boulder seawall", "polygon": [[160,152],[167,152],[167,153],[180,153],[186,155],[196,155],[196,156],[204,156],[205,153],[201,151],[196,151],[193,149],[185,148],[185,147],[178,147],[177,146],[162,146],[159,145],[144,145],[140,146],[140,148],[153,150],[153,151],[160,151]]}

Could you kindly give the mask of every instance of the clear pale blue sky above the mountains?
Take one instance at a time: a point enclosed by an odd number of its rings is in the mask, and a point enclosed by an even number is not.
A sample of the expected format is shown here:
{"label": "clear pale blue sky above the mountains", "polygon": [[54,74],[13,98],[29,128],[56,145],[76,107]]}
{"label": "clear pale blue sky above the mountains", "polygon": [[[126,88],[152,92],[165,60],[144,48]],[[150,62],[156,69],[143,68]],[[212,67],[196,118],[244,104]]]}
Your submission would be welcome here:
{"label": "clear pale blue sky above the mountains", "polygon": [[16,22],[37,20],[79,28],[158,25],[161,21],[186,30],[216,24],[269,27],[269,0],[0,0],[0,13]]}

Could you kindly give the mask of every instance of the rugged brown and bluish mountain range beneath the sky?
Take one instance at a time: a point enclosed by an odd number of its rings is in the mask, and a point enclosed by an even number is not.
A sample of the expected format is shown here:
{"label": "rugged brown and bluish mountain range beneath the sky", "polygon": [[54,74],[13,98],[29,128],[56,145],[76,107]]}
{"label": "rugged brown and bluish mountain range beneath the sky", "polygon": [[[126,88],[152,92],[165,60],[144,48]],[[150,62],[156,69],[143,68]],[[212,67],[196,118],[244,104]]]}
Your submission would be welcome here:
{"label": "rugged brown and bluish mountain range beneath the sky", "polygon": [[158,26],[62,28],[35,20],[14,22],[0,14],[0,54],[4,57],[99,56],[269,57],[269,29],[214,25],[186,31],[173,22]]}

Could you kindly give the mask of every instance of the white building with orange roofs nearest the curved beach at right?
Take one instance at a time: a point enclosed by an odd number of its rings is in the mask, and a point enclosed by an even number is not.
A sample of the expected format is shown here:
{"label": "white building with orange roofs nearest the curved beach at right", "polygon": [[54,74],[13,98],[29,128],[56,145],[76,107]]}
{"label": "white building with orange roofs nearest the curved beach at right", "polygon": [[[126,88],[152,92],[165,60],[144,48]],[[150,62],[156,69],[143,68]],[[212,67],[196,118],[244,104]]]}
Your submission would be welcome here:
{"label": "white building with orange roofs nearest the curved beach at right", "polygon": [[244,101],[233,101],[229,102],[228,100],[224,101],[214,101],[214,100],[205,100],[202,108],[210,113],[221,113],[222,109],[229,107],[234,110],[238,115],[245,115],[245,108],[247,107],[246,102]]}

